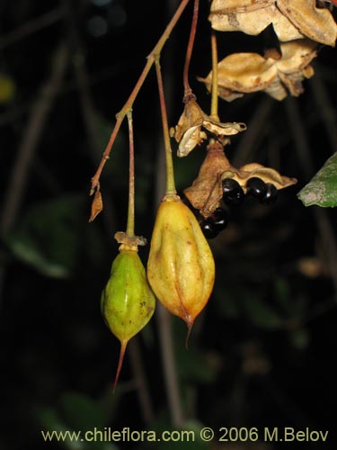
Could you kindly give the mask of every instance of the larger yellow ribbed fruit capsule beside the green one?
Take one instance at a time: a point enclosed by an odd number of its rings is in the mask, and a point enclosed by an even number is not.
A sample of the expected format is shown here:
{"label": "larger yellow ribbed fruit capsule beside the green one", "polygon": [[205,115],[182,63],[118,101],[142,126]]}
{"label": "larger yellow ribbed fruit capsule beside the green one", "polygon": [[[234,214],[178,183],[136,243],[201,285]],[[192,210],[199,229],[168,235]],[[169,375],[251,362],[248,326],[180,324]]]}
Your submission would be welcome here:
{"label": "larger yellow ribbed fruit capsule beside the green one", "polygon": [[164,307],[186,322],[188,338],[212,292],[215,264],[198,220],[178,195],[166,195],[159,205],[147,278]]}

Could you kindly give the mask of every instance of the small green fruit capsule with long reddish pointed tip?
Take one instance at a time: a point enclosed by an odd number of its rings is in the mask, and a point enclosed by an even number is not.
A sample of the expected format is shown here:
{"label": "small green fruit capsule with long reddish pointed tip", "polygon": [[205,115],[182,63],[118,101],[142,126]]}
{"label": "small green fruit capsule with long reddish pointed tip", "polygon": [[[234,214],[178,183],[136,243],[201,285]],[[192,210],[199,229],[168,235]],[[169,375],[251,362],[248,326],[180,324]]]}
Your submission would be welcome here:
{"label": "small green fruit capsule with long reddish pointed tip", "polygon": [[101,307],[112,334],[120,340],[115,389],[129,339],[146,326],[155,311],[155,295],[134,247],[120,246],[120,255],[112,263],[109,281],[102,292]]}

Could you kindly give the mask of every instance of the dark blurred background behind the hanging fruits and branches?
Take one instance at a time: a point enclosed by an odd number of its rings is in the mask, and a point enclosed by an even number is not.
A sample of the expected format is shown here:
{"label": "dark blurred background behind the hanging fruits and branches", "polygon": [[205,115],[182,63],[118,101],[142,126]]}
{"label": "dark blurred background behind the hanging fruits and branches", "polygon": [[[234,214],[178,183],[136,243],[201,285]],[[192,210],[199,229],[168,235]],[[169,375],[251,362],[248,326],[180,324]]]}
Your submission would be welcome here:
{"label": "dark blurred background behind the hanging fruits and branches", "polygon": [[[105,327],[99,303],[118,252],[114,233],[126,227],[126,124],[103,171],[104,211],[93,223],[88,193],[115,114],[178,3],[0,3],[2,449],[117,448],[45,443],[41,429],[174,428],[158,311],[130,343],[119,388],[111,394],[119,342]],[[209,95],[196,76],[210,70],[207,16],[203,1],[191,85],[206,112]],[[170,126],[182,113],[190,23],[191,5],[161,58]],[[257,38],[240,33],[219,36],[220,58],[259,46]],[[219,103],[222,121],[248,126],[228,149],[234,165],[257,161],[298,183],[270,206],[247,199],[229,210],[230,225],[209,242],[217,280],[188,351],[185,326],[172,319],[182,410],[189,420],[182,428],[308,427],[329,430],[329,441],[302,446],[335,448],[337,217],[333,209],[306,208],[297,193],[336,149],[336,59],[335,49],[320,49],[315,76],[297,99],[277,102],[257,93]],[[154,73],[133,113],[136,232],[150,239],[163,194]],[[174,158],[179,190],[192,183],[203,157],[199,148]],[[147,252],[139,250],[144,264]],[[146,383],[139,387],[141,374]],[[139,400],[139,393],[149,399]],[[200,448],[259,448],[225,444]],[[295,444],[260,448],[284,446]]]}

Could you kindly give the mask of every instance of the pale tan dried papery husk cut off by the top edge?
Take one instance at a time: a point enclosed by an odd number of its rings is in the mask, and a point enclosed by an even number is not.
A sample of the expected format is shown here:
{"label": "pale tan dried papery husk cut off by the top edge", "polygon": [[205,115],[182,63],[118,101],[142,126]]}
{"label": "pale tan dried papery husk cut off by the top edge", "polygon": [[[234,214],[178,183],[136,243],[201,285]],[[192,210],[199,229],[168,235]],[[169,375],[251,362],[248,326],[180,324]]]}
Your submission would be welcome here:
{"label": "pale tan dried papery husk cut off by the top edge", "polygon": [[272,23],[280,41],[307,37],[334,46],[337,25],[328,9],[315,0],[213,0],[208,17],[217,31],[243,31],[256,36]]}

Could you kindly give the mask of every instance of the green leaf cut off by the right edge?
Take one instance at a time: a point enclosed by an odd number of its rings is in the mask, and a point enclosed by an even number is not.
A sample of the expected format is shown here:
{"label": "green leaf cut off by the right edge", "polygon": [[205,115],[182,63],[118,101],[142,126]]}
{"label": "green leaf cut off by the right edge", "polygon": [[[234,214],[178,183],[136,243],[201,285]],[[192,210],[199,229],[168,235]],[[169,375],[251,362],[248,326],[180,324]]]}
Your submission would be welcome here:
{"label": "green leaf cut off by the right edge", "polygon": [[297,193],[305,206],[337,206],[337,152],[325,162],[313,179]]}

